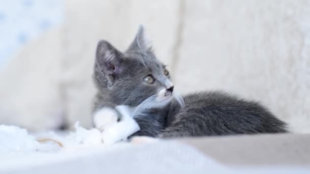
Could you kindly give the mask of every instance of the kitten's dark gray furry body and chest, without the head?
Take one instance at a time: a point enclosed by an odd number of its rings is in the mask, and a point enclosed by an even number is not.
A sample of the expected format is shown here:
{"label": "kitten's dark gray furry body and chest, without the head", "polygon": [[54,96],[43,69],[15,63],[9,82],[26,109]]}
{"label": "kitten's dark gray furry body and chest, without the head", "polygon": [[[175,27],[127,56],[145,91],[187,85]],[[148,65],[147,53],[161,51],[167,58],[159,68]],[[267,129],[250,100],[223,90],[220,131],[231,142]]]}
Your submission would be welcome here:
{"label": "kitten's dark gray furry body and chest, without the head", "polygon": [[201,92],[184,97],[184,107],[173,101],[164,109],[146,110],[136,121],[135,135],[189,137],[286,132],[285,123],[266,108],[223,92]]}

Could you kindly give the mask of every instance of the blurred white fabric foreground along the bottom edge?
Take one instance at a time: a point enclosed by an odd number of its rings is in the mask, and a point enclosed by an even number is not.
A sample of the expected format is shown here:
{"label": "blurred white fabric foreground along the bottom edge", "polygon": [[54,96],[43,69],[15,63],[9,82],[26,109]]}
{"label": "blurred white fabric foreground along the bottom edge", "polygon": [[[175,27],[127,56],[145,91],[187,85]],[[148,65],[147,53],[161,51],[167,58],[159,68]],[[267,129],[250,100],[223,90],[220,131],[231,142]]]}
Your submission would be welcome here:
{"label": "blurred white fabric foreground along the bottom edge", "polygon": [[[232,168],[204,156],[194,148],[176,142],[106,147],[64,154],[32,155],[24,165],[0,173],[307,173],[310,168],[297,166]],[[44,159],[44,160],[43,160]],[[10,159],[8,160],[10,161]],[[14,161],[14,160],[13,160]],[[29,162],[30,161],[30,162]],[[18,163],[19,162],[19,163]],[[8,162],[6,162],[8,163]],[[4,164],[6,164],[4,163]],[[11,163],[12,164],[12,163]],[[6,164],[6,166],[8,166]]]}

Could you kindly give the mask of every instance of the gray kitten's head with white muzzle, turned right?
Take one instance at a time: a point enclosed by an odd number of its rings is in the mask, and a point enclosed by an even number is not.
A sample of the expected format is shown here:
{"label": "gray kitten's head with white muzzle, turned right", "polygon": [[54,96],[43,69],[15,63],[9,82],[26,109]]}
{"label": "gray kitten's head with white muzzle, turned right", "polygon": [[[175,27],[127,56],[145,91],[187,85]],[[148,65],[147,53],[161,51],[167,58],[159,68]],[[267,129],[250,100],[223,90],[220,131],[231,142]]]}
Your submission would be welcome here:
{"label": "gray kitten's head with white muzzle, turned right", "polygon": [[147,46],[142,26],[124,52],[107,41],[98,42],[94,81],[99,93],[116,105],[144,102],[162,107],[173,98],[169,71]]}

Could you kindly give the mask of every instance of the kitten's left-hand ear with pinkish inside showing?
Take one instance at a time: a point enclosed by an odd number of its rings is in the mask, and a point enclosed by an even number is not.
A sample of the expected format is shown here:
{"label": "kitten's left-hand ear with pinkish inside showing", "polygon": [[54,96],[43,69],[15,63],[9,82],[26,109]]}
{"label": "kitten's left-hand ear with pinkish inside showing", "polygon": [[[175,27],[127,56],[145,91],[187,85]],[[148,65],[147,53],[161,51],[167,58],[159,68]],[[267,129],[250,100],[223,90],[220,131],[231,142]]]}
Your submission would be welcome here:
{"label": "kitten's left-hand ear with pinkish inside showing", "polygon": [[101,40],[98,42],[96,66],[108,79],[110,84],[113,84],[117,74],[120,74],[122,71],[122,57],[123,53],[114,48],[108,41]]}

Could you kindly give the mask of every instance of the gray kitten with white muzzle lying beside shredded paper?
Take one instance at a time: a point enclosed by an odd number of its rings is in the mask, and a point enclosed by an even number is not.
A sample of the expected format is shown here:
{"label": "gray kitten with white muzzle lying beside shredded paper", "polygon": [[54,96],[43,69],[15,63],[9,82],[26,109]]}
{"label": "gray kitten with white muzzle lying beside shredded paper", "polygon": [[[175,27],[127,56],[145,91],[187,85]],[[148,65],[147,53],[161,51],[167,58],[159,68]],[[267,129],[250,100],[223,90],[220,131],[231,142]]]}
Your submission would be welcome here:
{"label": "gray kitten with white muzzle lying beside shredded paper", "polygon": [[165,65],[145,43],[143,27],[124,52],[99,41],[93,79],[97,87],[94,120],[100,120],[95,126],[101,130],[121,119],[115,106],[127,105],[141,128],[134,135],[166,138],[287,132],[284,122],[254,101],[220,91],[179,97]]}

